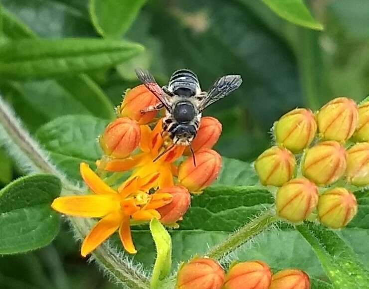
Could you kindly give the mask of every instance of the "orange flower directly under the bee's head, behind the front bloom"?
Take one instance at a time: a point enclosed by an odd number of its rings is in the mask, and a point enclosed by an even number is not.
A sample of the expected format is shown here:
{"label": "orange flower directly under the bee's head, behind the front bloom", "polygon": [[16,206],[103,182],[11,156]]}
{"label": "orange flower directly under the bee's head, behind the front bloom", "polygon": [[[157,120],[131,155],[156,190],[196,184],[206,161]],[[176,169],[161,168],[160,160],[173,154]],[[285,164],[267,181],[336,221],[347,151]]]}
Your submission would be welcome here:
{"label": "orange flower directly under the bee's head, behind the front bloom", "polygon": [[131,178],[136,176],[146,177],[153,173],[159,173],[154,187],[173,186],[173,175],[177,174],[177,167],[173,162],[183,154],[185,146],[176,145],[156,161],[153,161],[172,144],[162,136],[162,132],[162,121],[158,122],[153,131],[149,126],[141,126],[140,148],[142,152],[127,158],[112,159],[107,162],[105,170],[126,171],[135,168]]}

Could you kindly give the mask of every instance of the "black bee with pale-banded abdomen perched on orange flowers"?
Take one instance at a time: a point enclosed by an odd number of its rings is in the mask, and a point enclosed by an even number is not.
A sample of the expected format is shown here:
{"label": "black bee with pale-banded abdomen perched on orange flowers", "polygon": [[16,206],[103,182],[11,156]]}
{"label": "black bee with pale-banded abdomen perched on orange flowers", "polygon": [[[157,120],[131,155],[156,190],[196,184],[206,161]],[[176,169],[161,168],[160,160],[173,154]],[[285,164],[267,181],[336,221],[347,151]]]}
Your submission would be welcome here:
{"label": "black bee with pale-banded abdomen perched on orange flowers", "polygon": [[[160,101],[141,112],[165,108],[163,130],[173,142],[154,161],[176,144],[189,145],[193,155],[191,142],[196,136],[203,110],[239,88],[242,83],[240,75],[225,75],[215,81],[208,91],[202,91],[196,74],[188,69],[180,69],[172,74],[168,85],[160,87],[149,71],[139,68],[135,71],[140,81]],[[193,162],[195,163],[194,158]]]}

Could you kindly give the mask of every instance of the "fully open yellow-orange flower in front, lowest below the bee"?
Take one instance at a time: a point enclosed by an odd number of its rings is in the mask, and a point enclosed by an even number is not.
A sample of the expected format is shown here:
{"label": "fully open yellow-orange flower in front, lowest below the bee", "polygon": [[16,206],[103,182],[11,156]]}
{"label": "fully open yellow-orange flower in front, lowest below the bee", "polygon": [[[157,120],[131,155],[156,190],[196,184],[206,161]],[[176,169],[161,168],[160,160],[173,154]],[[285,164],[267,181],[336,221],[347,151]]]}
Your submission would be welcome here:
{"label": "fully open yellow-orange flower in front, lowest below the bee", "polygon": [[160,219],[156,210],[172,201],[167,193],[148,194],[159,174],[145,178],[135,177],[123,183],[118,191],[104,183],[88,166],[80,164],[83,180],[94,194],[56,198],[51,207],[63,214],[101,218],[84,239],[81,255],[87,256],[115,231],[119,231],[122,244],[127,252],[136,253],[130,229],[130,219],[149,221]]}

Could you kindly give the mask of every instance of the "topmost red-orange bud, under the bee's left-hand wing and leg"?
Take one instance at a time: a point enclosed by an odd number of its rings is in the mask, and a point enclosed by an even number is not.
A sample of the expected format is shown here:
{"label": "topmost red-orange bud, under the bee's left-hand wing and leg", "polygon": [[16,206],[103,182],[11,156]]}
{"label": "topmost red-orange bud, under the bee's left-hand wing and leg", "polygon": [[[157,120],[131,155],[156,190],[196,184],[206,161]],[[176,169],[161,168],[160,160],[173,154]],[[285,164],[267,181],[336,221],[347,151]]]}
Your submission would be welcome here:
{"label": "topmost red-orange bud, under the bee's left-hand wing and leg", "polygon": [[126,92],[118,110],[120,116],[129,117],[140,125],[145,125],[153,120],[157,111],[142,113],[141,110],[158,103],[158,98],[141,84]]}

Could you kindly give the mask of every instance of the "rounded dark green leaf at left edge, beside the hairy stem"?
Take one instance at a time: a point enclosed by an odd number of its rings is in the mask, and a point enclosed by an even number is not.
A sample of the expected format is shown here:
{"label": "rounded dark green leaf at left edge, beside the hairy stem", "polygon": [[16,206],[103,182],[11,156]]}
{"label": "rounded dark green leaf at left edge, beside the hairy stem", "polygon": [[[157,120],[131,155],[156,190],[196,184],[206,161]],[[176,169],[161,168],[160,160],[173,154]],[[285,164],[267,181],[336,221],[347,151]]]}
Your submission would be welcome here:
{"label": "rounded dark green leaf at left edge, beside the hairy stem", "polygon": [[0,191],[0,254],[16,254],[49,244],[59,231],[50,204],[61,190],[53,175],[21,177]]}

